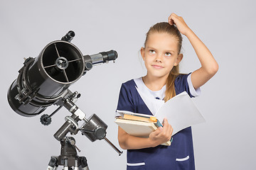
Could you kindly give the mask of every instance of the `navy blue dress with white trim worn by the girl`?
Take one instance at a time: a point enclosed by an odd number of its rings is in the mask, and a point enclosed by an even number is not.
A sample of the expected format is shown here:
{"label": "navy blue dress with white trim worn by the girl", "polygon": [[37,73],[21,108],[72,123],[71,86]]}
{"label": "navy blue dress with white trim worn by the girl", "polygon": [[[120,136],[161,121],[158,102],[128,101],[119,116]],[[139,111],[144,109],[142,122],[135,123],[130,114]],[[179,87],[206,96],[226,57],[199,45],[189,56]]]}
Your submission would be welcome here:
{"label": "navy blue dress with white trim worn by the girl", "polygon": [[[180,74],[176,78],[176,95],[186,91],[193,97],[188,86],[188,75]],[[152,115],[139,95],[133,79],[122,84],[117,110]],[[169,147],[159,145],[145,149],[128,149],[127,170],[135,169],[195,169],[191,127],[177,132]]]}

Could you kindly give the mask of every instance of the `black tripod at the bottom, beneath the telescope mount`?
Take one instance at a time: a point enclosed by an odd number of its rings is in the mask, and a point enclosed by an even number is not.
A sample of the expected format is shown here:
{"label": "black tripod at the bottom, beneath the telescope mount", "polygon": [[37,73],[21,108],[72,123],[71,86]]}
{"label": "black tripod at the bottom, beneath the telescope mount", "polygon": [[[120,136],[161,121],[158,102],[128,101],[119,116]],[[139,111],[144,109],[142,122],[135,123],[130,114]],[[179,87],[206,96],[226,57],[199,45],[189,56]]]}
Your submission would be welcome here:
{"label": "black tripod at the bottom, beneath the telescope mount", "polygon": [[59,165],[64,166],[63,170],[89,170],[87,159],[77,154],[74,137],[65,137],[60,145],[60,156],[50,157],[47,170],[56,170]]}

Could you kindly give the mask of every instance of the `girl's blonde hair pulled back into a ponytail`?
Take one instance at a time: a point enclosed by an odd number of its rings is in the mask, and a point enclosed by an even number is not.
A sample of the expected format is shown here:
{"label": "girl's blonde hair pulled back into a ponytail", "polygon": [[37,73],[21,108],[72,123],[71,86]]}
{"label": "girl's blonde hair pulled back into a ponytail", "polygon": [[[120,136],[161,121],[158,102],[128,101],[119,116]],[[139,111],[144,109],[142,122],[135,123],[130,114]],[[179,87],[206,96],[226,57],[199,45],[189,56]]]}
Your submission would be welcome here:
{"label": "girl's blonde hair pulled back into a ponytail", "polygon": [[[166,23],[166,22],[156,23],[154,26],[151,26],[151,28],[149,28],[149,31],[146,33],[146,40],[144,42],[144,47],[146,47],[146,42],[149,39],[149,35],[151,35],[152,33],[168,33],[170,35],[173,35],[174,38],[176,38],[177,40],[178,55],[180,54],[181,45],[182,45],[182,36],[178,28],[176,28],[176,26],[174,25],[171,26],[169,23]],[[169,73],[169,76],[166,79],[166,92],[164,97],[165,102],[173,98],[174,96],[176,96],[174,81],[176,77],[178,77],[178,75],[179,75],[179,67],[178,65],[176,65],[173,67],[173,69],[171,69],[171,72]]]}

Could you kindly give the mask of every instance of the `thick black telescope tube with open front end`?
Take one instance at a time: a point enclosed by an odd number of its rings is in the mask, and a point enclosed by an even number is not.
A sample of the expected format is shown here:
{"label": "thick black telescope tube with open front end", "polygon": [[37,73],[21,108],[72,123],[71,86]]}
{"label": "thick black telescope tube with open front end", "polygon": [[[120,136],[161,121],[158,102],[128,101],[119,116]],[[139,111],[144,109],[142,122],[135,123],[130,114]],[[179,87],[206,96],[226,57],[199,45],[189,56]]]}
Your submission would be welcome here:
{"label": "thick black telescope tube with open front end", "polygon": [[[59,58],[67,60],[67,68],[56,68]],[[90,64],[87,65],[90,68]],[[8,90],[9,105],[22,116],[41,114],[48,106],[60,100],[68,87],[82,77],[84,71],[85,62],[78,47],[63,40],[50,42],[38,57],[28,57],[23,63],[18,78]]]}

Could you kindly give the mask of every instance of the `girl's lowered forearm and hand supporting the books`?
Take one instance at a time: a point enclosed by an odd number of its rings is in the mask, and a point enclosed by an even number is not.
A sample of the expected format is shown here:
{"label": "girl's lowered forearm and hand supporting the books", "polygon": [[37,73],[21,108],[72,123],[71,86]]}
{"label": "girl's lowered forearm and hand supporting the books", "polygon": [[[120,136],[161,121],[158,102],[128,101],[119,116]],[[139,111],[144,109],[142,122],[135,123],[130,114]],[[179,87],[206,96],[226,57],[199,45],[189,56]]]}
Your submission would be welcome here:
{"label": "girl's lowered forearm and hand supporting the books", "polygon": [[171,140],[173,128],[168,121],[164,119],[164,128],[160,127],[151,132],[149,137],[134,137],[127,134],[122,128],[118,127],[118,141],[122,149],[143,149],[147,147],[156,147],[164,142]]}

